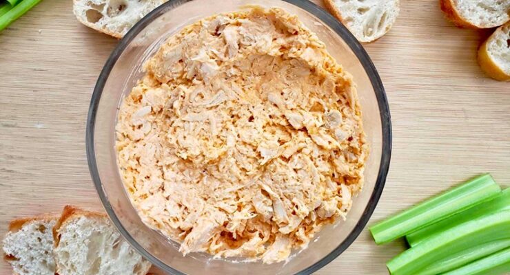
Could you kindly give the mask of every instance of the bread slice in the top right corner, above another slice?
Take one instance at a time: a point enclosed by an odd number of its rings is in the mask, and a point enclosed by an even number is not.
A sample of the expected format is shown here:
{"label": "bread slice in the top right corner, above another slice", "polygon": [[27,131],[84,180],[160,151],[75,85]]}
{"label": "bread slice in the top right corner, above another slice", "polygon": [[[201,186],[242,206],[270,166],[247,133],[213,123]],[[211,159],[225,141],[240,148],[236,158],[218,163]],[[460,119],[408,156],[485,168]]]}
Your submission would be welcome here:
{"label": "bread slice in the top right corner, above another slice", "polygon": [[509,0],[440,0],[440,6],[458,27],[494,28],[510,20]]}

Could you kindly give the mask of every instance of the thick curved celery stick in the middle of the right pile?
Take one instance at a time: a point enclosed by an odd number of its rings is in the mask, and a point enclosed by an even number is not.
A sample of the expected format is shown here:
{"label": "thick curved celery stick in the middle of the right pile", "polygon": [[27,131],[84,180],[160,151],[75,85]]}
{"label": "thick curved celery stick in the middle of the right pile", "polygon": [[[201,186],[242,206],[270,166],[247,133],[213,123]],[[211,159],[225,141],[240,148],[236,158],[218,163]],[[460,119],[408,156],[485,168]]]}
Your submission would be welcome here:
{"label": "thick curved celery stick in the middle of the right pile", "polygon": [[503,239],[510,239],[510,210],[488,214],[449,228],[402,252],[386,266],[392,275],[416,274],[449,255]]}

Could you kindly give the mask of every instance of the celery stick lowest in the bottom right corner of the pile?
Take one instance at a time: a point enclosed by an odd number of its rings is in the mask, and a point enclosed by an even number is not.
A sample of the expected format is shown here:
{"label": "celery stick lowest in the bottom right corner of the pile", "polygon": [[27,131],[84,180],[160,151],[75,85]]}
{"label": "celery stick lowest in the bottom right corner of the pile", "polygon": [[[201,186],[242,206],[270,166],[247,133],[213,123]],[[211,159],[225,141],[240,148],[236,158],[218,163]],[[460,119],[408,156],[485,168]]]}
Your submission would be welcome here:
{"label": "celery stick lowest in the bottom right corner of the pile", "polygon": [[445,275],[502,274],[507,272],[510,272],[510,248],[447,272]]}

